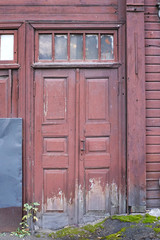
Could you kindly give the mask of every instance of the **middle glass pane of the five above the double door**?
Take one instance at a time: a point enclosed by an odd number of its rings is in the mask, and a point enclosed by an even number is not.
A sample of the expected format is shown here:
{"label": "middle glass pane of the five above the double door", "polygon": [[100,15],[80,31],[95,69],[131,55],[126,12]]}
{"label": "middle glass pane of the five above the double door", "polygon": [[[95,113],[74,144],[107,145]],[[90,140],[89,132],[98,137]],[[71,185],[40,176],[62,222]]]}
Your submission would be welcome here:
{"label": "middle glass pane of the five above the double door", "polygon": [[70,36],[70,58],[83,59],[83,35]]}

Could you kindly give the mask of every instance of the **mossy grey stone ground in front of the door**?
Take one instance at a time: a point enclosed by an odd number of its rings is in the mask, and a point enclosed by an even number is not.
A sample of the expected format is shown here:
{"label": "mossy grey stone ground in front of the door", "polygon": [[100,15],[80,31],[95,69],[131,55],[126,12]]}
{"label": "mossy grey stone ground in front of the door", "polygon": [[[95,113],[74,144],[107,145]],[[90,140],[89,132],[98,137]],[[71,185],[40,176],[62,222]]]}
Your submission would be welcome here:
{"label": "mossy grey stone ground in front of the door", "polygon": [[[86,225],[79,228],[64,228],[61,231],[39,230],[33,236],[22,237],[24,240],[52,240],[52,239],[125,239],[125,240],[150,240],[160,239],[160,217],[150,215],[129,215],[109,217],[95,225]],[[120,218],[119,218],[120,217]],[[0,233],[0,240],[19,240],[10,233]]]}

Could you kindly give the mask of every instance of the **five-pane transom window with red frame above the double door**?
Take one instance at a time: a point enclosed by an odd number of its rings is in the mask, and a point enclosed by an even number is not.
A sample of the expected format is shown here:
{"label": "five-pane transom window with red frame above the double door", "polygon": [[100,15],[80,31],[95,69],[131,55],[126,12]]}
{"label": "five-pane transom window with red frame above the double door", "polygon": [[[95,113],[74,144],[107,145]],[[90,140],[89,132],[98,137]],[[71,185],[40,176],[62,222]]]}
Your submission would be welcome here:
{"label": "five-pane transom window with red frame above the double door", "polygon": [[116,31],[38,31],[36,61],[108,61],[117,59]]}

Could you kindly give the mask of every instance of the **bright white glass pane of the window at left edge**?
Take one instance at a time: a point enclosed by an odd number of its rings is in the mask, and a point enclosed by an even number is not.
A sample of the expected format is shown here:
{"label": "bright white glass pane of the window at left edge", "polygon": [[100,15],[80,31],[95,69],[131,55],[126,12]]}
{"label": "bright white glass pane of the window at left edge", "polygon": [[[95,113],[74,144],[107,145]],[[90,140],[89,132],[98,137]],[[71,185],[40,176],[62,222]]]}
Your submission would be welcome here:
{"label": "bright white glass pane of the window at left edge", "polygon": [[14,35],[1,35],[0,60],[14,60]]}

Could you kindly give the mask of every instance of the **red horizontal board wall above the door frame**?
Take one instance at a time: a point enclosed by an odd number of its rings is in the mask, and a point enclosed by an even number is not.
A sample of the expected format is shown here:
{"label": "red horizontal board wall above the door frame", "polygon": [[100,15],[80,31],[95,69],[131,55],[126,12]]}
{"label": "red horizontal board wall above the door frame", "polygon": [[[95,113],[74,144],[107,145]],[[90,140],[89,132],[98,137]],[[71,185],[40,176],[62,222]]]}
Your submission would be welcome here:
{"label": "red horizontal board wall above the door frame", "polygon": [[0,3],[0,18],[114,22],[122,16],[119,2],[123,6],[123,0],[6,0]]}

